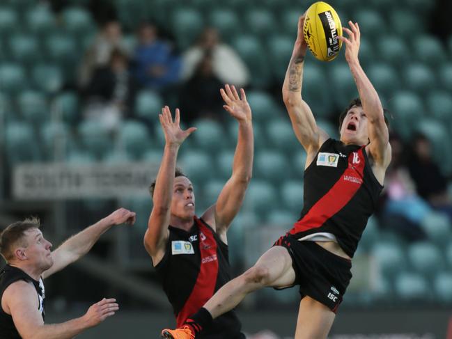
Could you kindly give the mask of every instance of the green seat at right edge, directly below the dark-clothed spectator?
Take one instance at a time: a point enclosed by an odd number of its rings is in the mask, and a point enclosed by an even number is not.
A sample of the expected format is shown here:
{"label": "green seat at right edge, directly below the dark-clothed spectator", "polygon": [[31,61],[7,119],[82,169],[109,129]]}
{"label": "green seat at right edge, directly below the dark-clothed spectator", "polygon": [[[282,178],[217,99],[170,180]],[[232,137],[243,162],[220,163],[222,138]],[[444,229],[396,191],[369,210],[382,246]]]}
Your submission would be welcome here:
{"label": "green seat at right edge, directly below the dark-clothed spectator", "polygon": [[430,212],[421,222],[421,227],[428,235],[428,239],[437,246],[451,244],[452,225],[449,218],[442,213]]}

